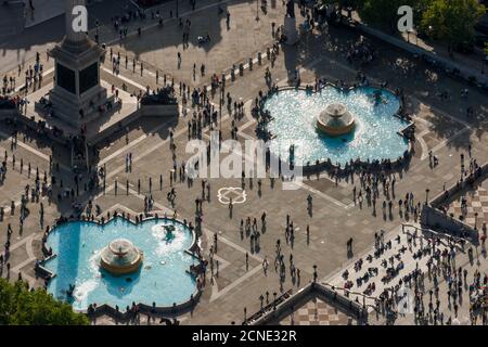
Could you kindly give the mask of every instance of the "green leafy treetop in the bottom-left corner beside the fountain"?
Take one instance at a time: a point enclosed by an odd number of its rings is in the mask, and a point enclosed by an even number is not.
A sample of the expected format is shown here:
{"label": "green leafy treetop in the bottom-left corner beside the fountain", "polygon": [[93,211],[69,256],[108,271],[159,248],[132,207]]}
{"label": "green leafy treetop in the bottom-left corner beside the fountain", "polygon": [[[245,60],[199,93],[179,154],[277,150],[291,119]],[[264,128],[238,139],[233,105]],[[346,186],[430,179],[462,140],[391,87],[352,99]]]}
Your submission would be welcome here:
{"label": "green leafy treetop in the bottom-left corner beside the fountain", "polygon": [[0,279],[0,325],[87,325],[86,314],[55,300],[42,288],[29,291],[24,282]]}

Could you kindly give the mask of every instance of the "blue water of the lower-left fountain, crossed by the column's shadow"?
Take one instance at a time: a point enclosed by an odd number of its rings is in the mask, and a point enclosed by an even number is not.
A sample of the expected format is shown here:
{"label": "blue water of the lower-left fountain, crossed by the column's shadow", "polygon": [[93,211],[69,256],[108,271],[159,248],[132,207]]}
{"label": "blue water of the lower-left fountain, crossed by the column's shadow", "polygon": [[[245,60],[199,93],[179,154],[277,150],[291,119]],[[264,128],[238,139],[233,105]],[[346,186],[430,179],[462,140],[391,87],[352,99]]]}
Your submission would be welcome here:
{"label": "blue water of the lower-left fountain, crossed by the column's shadow", "polygon": [[[166,239],[164,226],[174,224],[174,237]],[[116,218],[105,226],[76,221],[55,228],[47,246],[57,257],[46,262],[56,273],[48,292],[61,300],[69,300],[78,310],[88,305],[118,305],[120,310],[134,303],[172,306],[190,299],[196,288],[185,272],[197,261],[183,250],[192,244],[191,231],[180,222],[167,219],[147,220],[138,226]],[[113,277],[99,268],[100,252],[115,239],[127,239],[144,254],[140,271]],[[66,291],[75,284],[74,298]]]}

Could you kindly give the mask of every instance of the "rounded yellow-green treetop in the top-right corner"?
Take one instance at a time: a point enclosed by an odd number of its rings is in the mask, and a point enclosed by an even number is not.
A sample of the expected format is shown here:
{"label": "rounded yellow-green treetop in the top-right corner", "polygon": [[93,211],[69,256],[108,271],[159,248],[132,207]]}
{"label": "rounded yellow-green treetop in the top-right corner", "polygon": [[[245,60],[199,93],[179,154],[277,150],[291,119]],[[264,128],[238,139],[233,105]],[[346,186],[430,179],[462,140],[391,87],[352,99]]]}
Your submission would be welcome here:
{"label": "rounded yellow-green treetop in the top-right corner", "polygon": [[474,42],[474,25],[485,13],[477,0],[434,0],[422,16],[421,28],[433,39],[446,41],[449,49]]}

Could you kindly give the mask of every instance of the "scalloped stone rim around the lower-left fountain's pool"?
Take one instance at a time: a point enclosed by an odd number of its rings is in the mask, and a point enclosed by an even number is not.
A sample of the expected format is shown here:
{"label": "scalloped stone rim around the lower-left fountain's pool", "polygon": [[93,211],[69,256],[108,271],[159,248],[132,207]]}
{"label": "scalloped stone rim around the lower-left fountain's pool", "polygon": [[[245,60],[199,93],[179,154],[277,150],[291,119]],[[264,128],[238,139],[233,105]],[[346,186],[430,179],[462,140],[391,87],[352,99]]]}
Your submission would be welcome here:
{"label": "scalloped stone rim around the lower-left fountain's pool", "polygon": [[[116,219],[121,219],[121,220],[128,221],[128,222],[132,223],[133,226],[139,226],[139,224],[144,223],[145,221],[150,221],[150,220],[169,220],[169,221],[172,221],[172,222],[180,223],[180,224],[182,224],[183,227],[185,227],[185,228],[191,232],[191,234],[192,234],[192,243],[191,243],[190,247],[188,247],[188,248],[185,248],[185,249],[182,249],[181,252],[183,252],[183,253],[190,255],[191,257],[196,257],[196,256],[193,254],[193,252],[190,250],[190,249],[192,249],[192,248],[196,245],[196,242],[197,242],[196,232],[195,232],[194,230],[191,230],[191,229],[190,229],[187,224],[184,224],[184,222],[181,221],[180,219],[171,218],[171,217],[157,217],[157,218],[156,218],[156,216],[154,216],[154,217],[145,218],[144,220],[142,220],[142,221],[139,222],[139,223],[136,223],[136,222],[132,221],[130,218],[123,217],[123,216],[120,216],[120,215],[118,215],[118,214],[117,214],[116,216],[112,216],[111,219],[108,219],[108,220],[107,220],[106,222],[104,222],[104,223],[102,223],[102,222],[99,221],[99,220],[82,220],[82,219],[68,220],[68,221],[63,222],[63,223],[61,223],[61,224],[54,226],[54,227],[49,231],[49,233],[48,233],[48,240],[49,240],[49,234],[50,234],[51,232],[53,232],[56,228],[60,228],[60,227],[62,227],[62,226],[64,226],[64,224],[67,224],[67,223],[87,222],[87,223],[97,224],[97,226],[99,226],[99,227],[105,227],[105,226],[107,226],[107,224],[110,224],[110,223],[112,223],[112,222],[115,222]],[[51,260],[52,258],[54,258],[54,257],[56,257],[56,256],[57,256],[57,254],[53,254],[53,255],[51,255],[50,257],[40,260],[39,262],[40,262],[41,265],[44,265],[47,261]],[[53,274],[55,275],[55,273],[53,273]],[[54,278],[54,277],[53,277],[53,278]],[[51,282],[51,280],[52,280],[53,278],[51,278],[51,279],[48,281],[48,283]],[[179,310],[182,310],[182,309],[184,309],[184,308],[190,307],[190,305],[189,305],[190,303],[192,303],[192,301],[195,301],[195,303],[196,303],[196,300],[200,298],[201,295],[202,295],[202,291],[200,291],[198,287],[195,286],[195,291],[194,291],[193,294],[192,294],[193,300],[192,300],[192,296],[190,296],[190,298],[189,298],[188,300],[185,300],[185,301],[175,303],[176,306],[156,306],[155,308],[156,308],[157,311],[160,311],[160,312],[167,312],[167,311],[171,311],[171,312],[172,312],[174,310],[175,310],[175,311],[179,311]],[[91,303],[90,305],[92,305],[92,304],[93,304],[93,303]],[[143,307],[143,306],[150,307],[151,310],[153,309],[152,306],[149,306],[149,305],[143,304],[143,303],[139,303],[139,304],[137,304],[137,305],[138,305],[139,307]],[[75,309],[75,308],[73,307],[73,305],[70,305],[70,306],[72,306],[73,310],[76,311],[76,312],[88,313],[88,309],[81,309],[81,310],[78,310],[78,309]],[[112,307],[111,305],[108,305],[108,304],[102,304],[102,305],[98,305],[98,304],[97,304],[95,312],[97,312],[98,309],[103,309],[104,307],[105,307],[105,308],[108,308],[110,310],[116,311],[115,308],[113,308],[113,307]],[[107,313],[107,312],[105,312],[105,313]],[[126,312],[126,313],[127,313],[127,312]],[[110,313],[107,313],[107,314],[110,314]]]}

